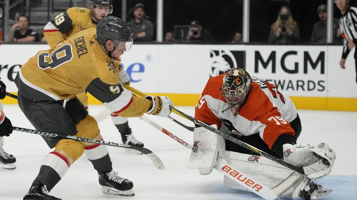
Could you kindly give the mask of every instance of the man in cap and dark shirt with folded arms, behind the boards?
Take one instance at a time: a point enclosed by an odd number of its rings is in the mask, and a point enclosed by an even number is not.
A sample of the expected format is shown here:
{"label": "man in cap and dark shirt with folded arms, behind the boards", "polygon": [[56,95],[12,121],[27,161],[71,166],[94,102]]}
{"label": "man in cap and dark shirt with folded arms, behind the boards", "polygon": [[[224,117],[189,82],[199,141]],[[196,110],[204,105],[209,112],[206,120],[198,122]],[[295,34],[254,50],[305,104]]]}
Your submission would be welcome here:
{"label": "man in cap and dark shirt with folded arms, behind the boards", "polygon": [[134,21],[128,22],[131,30],[131,38],[133,41],[150,42],[154,37],[154,24],[145,19],[144,4],[136,4],[134,6]]}

